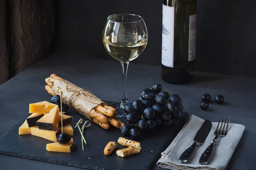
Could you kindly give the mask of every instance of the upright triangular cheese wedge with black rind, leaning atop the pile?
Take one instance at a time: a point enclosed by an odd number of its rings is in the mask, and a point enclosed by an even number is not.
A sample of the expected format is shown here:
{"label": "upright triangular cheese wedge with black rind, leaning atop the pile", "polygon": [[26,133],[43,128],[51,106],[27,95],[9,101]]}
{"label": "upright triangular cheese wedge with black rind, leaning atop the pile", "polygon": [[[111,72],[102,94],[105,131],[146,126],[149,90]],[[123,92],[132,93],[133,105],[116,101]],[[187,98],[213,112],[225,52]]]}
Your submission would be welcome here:
{"label": "upright triangular cheese wedge with black rind, leaning atop the pile", "polygon": [[49,113],[44,115],[41,119],[37,122],[39,129],[42,130],[57,130],[58,123],[59,123],[59,108],[58,105],[55,105]]}

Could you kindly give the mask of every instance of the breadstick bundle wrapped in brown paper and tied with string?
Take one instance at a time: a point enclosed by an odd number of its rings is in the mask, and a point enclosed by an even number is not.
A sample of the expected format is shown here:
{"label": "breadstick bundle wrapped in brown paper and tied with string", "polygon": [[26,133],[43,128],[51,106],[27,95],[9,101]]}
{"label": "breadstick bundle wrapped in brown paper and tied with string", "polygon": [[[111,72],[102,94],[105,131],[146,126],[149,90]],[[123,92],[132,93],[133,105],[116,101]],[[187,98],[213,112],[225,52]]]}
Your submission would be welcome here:
{"label": "breadstick bundle wrapped in brown paper and tied with string", "polygon": [[56,74],[51,74],[45,79],[45,82],[47,83],[45,90],[50,95],[58,95],[57,91],[61,88],[62,102],[102,128],[109,129],[110,125],[121,128],[124,125],[121,120],[116,118],[116,109],[108,106],[90,91],[84,90]]}

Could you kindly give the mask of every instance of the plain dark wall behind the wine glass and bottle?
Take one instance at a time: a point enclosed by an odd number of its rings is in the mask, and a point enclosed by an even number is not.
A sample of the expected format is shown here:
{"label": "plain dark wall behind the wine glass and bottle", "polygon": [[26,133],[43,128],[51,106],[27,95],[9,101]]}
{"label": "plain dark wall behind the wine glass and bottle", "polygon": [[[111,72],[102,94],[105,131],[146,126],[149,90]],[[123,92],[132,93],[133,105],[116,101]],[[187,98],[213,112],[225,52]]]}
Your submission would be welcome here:
{"label": "plain dark wall behind the wine glass and bottle", "polygon": [[[256,78],[256,1],[197,1],[196,71]],[[132,62],[161,64],[162,0],[56,0],[52,51],[112,59],[102,43],[108,15],[143,16],[148,44]]]}

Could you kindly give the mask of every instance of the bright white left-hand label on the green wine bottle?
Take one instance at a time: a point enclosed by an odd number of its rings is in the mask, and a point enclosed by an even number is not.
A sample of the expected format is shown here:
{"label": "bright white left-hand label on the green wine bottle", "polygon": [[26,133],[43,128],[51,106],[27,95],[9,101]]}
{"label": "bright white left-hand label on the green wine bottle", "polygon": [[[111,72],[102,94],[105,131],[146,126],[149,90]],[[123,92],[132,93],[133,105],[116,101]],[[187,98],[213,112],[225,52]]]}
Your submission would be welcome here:
{"label": "bright white left-hand label on the green wine bottle", "polygon": [[174,7],[163,5],[162,64],[173,67]]}

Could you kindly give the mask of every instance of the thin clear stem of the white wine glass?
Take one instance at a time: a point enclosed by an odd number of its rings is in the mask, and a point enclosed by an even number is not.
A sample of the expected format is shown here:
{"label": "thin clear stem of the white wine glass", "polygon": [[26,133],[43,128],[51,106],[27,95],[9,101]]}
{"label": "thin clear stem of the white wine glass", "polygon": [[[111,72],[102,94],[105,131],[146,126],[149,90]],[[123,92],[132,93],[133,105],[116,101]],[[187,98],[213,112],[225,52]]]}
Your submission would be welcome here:
{"label": "thin clear stem of the white wine glass", "polygon": [[127,70],[129,62],[121,62],[122,69],[123,69],[123,95],[122,95],[122,101],[121,101],[121,108],[124,108],[126,105],[128,105],[128,98],[127,98]]}

